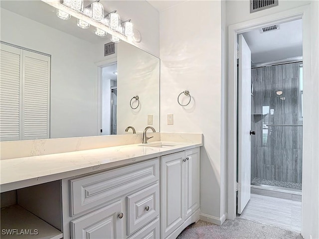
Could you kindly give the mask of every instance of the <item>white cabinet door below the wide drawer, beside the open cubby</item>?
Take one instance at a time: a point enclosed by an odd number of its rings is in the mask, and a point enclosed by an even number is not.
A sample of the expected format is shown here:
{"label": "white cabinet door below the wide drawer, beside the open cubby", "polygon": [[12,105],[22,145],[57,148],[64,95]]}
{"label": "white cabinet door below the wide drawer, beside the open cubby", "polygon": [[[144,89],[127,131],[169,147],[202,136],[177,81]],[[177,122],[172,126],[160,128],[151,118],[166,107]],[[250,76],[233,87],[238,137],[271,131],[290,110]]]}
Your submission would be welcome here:
{"label": "white cabinet door below the wide drawer, beside the open cubby", "polygon": [[71,221],[71,239],[123,239],[126,220],[124,209],[124,200],[119,200]]}

